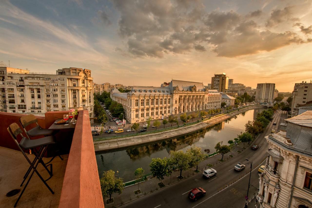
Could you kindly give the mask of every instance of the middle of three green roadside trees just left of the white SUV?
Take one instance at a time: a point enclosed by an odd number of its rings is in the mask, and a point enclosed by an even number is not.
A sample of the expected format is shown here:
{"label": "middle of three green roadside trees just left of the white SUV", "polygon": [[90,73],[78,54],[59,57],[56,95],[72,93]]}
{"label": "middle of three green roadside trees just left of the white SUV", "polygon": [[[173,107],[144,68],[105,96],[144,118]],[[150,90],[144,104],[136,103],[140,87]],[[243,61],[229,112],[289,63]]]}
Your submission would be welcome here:
{"label": "middle of three green roadside trees just left of the white SUV", "polygon": [[182,171],[186,171],[190,167],[190,155],[182,150],[170,151],[170,160],[180,170],[180,178],[182,177]]}

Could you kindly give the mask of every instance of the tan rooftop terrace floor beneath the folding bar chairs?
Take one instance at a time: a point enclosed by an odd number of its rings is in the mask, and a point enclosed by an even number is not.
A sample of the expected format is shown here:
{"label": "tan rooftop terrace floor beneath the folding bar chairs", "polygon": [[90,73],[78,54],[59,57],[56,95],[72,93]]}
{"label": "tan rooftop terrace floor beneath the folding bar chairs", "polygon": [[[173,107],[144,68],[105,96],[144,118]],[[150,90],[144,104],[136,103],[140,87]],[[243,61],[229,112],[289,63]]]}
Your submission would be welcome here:
{"label": "tan rooftop terrace floor beneath the folding bar chairs", "polygon": [[[31,161],[35,157],[33,154],[27,154],[27,156]],[[51,162],[53,164],[53,176],[47,181],[47,184],[54,191],[54,194],[48,190],[37,174],[34,173],[17,207],[58,207],[68,155],[62,155],[62,158],[64,159],[63,161],[56,157]],[[43,161],[48,162],[50,159],[43,158]],[[11,197],[7,197],[6,194],[13,189],[21,189],[22,191],[26,182],[22,187],[20,187],[20,184],[29,164],[22,152],[3,147],[0,147],[0,161],[0,207],[13,207],[21,192]],[[41,164],[38,165],[37,170],[43,179],[49,177],[48,172]]]}

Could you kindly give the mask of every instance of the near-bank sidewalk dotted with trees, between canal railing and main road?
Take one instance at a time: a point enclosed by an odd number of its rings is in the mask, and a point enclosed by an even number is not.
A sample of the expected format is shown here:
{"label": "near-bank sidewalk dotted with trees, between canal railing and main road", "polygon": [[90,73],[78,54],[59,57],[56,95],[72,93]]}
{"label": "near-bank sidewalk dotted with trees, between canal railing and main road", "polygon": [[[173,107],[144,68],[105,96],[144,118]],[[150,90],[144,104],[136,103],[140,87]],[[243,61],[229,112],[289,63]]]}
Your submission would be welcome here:
{"label": "near-bank sidewalk dotted with trees, between canal railing and main road", "polygon": [[[242,147],[243,147],[243,144],[240,144],[240,145],[237,145],[237,146],[234,146],[233,150],[232,150],[232,155],[233,156],[236,156],[238,155],[239,153],[236,152],[238,149],[240,151],[242,151]],[[248,144],[245,144],[245,147],[248,148]],[[213,153],[213,152],[211,152]],[[230,158],[231,155],[231,152],[225,154],[223,156],[223,160],[227,160]],[[203,160],[202,162],[199,163],[198,165],[198,170],[199,171],[203,171],[203,170],[206,170],[208,169],[208,164],[211,164],[212,166],[215,166],[217,164],[220,163],[219,159],[222,158],[222,155],[221,154],[216,154],[212,157],[209,157],[207,158],[206,160]],[[193,170],[196,170],[196,167],[192,167],[191,169],[187,170],[187,171],[182,171],[182,176],[187,178],[189,176],[192,176],[193,174],[195,174],[195,172]],[[146,173],[149,173],[150,171],[149,170],[145,170]],[[198,173],[198,174],[202,174],[201,172]],[[174,182],[177,182],[178,181],[178,176],[180,175],[180,171],[174,171],[172,172],[172,175],[171,177],[164,177],[164,180],[162,181],[166,186],[169,185],[169,184],[172,184]],[[127,181],[124,181],[124,182],[127,182]],[[148,194],[150,192],[153,192],[153,191],[157,191],[160,187],[157,185],[157,183],[159,183],[160,181],[156,178],[156,177],[152,177],[152,178],[148,178],[147,181],[144,181],[144,182],[140,182],[139,183],[139,189],[142,191],[141,194],[139,194],[139,197],[140,196],[143,196],[144,194]],[[114,197],[114,203],[111,203],[111,204],[106,204],[106,199],[104,200],[104,204],[105,204],[105,207],[117,207],[117,206],[120,206],[128,201],[131,201],[135,198],[137,198],[137,195],[134,194],[134,191],[136,191],[138,189],[138,184],[134,184],[132,186],[127,186],[124,188],[124,191],[122,192],[122,194],[112,194],[112,197]],[[108,197],[109,198],[109,197]]]}

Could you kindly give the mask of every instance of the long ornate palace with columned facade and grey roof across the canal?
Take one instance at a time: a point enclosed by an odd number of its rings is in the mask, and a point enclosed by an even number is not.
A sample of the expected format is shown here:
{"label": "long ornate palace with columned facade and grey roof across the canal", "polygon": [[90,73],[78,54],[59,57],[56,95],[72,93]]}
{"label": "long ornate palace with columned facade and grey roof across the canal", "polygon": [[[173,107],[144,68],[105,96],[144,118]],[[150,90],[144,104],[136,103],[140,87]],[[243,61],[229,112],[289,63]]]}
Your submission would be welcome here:
{"label": "long ornate palace with columned facade and grey roof across the canal", "polygon": [[128,93],[114,89],[110,96],[123,105],[129,123],[221,106],[217,90],[205,88],[202,82],[180,80],[172,80],[165,87],[133,86]]}

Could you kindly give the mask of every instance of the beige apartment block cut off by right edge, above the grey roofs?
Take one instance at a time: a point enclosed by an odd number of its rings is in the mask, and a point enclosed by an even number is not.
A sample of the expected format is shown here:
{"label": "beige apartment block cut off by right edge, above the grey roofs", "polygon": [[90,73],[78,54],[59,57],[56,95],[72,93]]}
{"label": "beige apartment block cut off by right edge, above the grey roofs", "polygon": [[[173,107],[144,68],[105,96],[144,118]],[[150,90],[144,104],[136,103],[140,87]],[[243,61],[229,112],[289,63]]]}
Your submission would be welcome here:
{"label": "beige apartment block cut off by right edge, above the grey roofs", "polygon": [[295,115],[298,107],[312,103],[312,82],[295,83],[292,94],[291,114]]}

